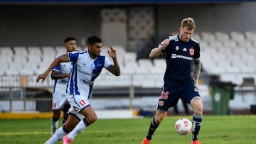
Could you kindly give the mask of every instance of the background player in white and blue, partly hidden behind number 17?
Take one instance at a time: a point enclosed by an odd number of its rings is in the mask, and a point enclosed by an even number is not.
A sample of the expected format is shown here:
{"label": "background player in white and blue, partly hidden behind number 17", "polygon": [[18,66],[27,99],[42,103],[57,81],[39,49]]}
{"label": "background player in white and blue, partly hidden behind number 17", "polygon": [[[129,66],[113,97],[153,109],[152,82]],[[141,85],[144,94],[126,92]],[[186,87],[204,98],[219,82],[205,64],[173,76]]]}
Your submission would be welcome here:
{"label": "background player in white and blue, partly hidden behind number 17", "polygon": [[[64,47],[65,52],[73,52],[74,50],[76,50],[75,38],[65,38]],[[60,55],[63,55],[65,52]],[[58,57],[60,55],[58,55]],[[67,121],[68,119],[68,109],[70,108],[70,104],[68,104],[67,101],[68,94],[66,90],[68,87],[72,67],[72,62],[60,62],[60,64],[54,67],[51,72],[51,78],[54,79],[52,101],[53,117],[51,118],[50,126],[51,135],[53,135],[58,128],[58,121],[60,119],[61,110],[63,110],[63,123],[65,123],[65,121]]]}

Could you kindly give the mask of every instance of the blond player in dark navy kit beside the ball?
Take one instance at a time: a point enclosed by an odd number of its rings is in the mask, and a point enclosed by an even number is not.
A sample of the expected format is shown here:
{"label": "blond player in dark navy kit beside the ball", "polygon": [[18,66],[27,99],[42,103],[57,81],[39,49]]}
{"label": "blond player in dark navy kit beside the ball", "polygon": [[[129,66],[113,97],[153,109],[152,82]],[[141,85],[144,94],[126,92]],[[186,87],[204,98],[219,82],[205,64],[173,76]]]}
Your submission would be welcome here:
{"label": "blond player in dark navy kit beside the ball", "polygon": [[163,121],[166,112],[177,104],[178,99],[186,101],[193,109],[191,144],[200,144],[198,133],[203,120],[203,102],[198,93],[198,80],[201,72],[200,46],[196,40],[191,38],[195,30],[196,24],[193,18],[184,18],[181,21],[179,34],[169,36],[149,54],[151,59],[159,57],[162,53],[166,54],[166,72],[156,113],[142,144],[150,143],[152,135]]}

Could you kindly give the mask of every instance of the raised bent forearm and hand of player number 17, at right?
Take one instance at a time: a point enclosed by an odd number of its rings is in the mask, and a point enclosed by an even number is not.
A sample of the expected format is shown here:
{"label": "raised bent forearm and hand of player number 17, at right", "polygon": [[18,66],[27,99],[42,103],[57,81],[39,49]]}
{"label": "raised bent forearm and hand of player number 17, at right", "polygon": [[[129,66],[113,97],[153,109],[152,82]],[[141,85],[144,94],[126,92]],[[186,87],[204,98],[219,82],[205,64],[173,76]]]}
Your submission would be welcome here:
{"label": "raised bent forearm and hand of player number 17, at right", "polygon": [[114,65],[110,65],[110,67],[107,67],[107,70],[112,74],[114,74],[115,76],[119,76],[121,72],[120,72],[119,64],[117,62],[117,52],[116,50],[114,50],[112,45],[110,45],[110,50],[108,51],[108,54],[110,55],[110,57],[112,57]]}

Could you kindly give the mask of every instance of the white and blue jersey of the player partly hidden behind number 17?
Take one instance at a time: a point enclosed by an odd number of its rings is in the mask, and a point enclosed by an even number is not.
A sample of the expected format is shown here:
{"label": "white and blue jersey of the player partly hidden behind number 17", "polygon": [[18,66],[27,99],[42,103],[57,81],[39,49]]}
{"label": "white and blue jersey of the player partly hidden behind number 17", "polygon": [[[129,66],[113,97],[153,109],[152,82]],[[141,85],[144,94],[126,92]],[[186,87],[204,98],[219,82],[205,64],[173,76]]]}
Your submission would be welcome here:
{"label": "white and blue jersey of the player partly hidden behind number 17", "polygon": [[[60,55],[63,55],[64,53],[65,52],[63,52]],[[57,57],[59,57],[60,55],[58,55]],[[56,71],[59,74],[68,74],[69,72],[72,71],[72,69],[73,69],[72,62],[60,62],[59,65],[53,68],[53,71]],[[53,94],[55,92],[65,94],[67,92],[68,82],[69,82],[68,77],[65,77],[63,79],[55,79],[54,85],[53,85]]]}

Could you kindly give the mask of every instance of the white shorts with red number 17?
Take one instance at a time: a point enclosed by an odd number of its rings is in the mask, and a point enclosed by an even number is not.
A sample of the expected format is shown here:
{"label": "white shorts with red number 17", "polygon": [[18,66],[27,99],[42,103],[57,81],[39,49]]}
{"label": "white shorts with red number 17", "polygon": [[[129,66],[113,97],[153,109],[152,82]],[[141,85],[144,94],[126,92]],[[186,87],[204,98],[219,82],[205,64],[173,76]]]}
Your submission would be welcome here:
{"label": "white shorts with red number 17", "polygon": [[75,114],[75,116],[78,116],[80,119],[85,118],[85,116],[80,113],[82,109],[90,106],[90,103],[85,96],[68,94],[68,102],[70,104],[70,109],[68,110],[69,113]]}

